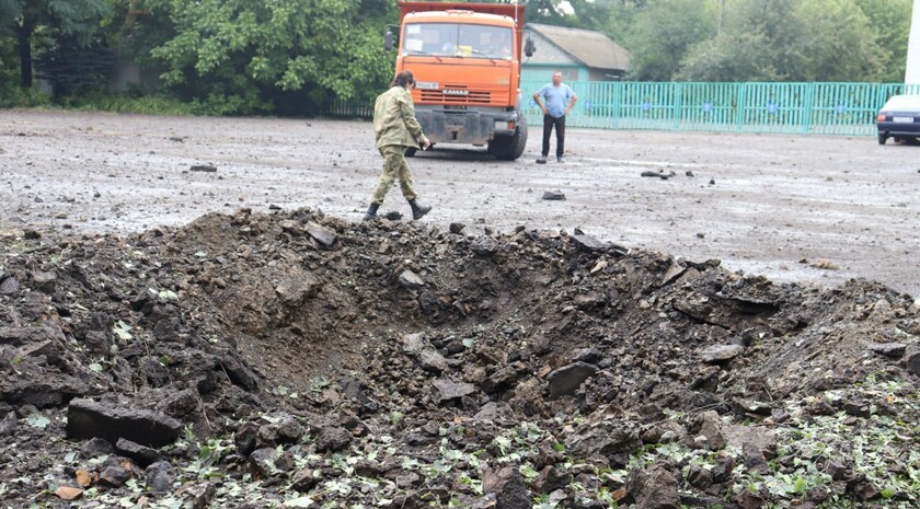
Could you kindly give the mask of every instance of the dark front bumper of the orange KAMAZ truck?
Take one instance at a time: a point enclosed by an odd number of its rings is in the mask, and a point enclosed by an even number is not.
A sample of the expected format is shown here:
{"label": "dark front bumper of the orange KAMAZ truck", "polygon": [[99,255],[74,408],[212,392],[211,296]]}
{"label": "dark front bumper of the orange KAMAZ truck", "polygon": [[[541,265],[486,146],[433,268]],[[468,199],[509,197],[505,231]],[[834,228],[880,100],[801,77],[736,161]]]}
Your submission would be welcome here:
{"label": "dark front bumper of the orange KAMAZ truck", "polygon": [[433,143],[469,143],[482,147],[496,136],[514,135],[518,114],[497,109],[445,109],[442,106],[416,105],[415,118]]}

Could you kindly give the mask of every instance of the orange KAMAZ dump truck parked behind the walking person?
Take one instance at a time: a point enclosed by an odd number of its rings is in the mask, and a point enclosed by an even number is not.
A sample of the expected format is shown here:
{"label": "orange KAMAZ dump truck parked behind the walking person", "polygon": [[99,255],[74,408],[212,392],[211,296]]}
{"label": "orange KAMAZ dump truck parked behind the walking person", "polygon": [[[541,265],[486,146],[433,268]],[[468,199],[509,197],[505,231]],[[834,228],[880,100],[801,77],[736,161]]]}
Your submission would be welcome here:
{"label": "orange KAMAZ dump truck parked behind the walking person", "polygon": [[395,71],[415,76],[415,116],[432,143],[487,144],[498,159],[519,158],[527,143],[520,111],[524,5],[399,5]]}

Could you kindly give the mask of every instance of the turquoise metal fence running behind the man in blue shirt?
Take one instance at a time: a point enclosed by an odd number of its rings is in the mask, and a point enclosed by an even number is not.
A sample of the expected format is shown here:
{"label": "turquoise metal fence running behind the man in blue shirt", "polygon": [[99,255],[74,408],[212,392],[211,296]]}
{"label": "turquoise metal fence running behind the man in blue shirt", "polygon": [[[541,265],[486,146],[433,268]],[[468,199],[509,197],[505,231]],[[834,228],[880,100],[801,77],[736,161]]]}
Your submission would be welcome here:
{"label": "turquoise metal fence running behind the man in blue shirt", "polygon": [[[522,82],[525,115],[542,125],[532,101],[545,82]],[[603,129],[874,136],[875,115],[896,94],[920,94],[900,83],[567,83],[578,103],[570,127]]]}

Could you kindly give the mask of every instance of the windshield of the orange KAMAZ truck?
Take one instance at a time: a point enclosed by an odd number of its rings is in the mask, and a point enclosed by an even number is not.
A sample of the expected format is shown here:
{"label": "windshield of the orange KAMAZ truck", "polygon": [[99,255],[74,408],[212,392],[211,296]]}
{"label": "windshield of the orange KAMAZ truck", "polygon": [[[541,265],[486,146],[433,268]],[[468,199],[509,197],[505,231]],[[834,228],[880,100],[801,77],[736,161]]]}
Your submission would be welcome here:
{"label": "windshield of the orange KAMAZ truck", "polygon": [[463,58],[511,58],[511,28],[457,23],[405,25],[403,55]]}

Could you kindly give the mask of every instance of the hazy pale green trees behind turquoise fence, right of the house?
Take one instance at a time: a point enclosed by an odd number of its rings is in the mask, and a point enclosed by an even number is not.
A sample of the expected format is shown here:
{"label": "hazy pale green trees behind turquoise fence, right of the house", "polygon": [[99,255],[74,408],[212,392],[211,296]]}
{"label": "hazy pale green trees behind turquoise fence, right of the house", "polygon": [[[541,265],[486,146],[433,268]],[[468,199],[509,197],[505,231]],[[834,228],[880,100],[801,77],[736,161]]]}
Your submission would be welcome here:
{"label": "hazy pale green trees behind turquoise fence, right of the house", "polygon": [[[630,78],[904,80],[912,0],[616,0]],[[674,13],[681,13],[674,15]]]}

